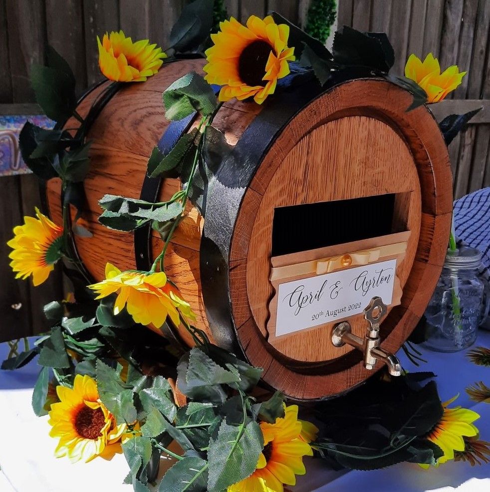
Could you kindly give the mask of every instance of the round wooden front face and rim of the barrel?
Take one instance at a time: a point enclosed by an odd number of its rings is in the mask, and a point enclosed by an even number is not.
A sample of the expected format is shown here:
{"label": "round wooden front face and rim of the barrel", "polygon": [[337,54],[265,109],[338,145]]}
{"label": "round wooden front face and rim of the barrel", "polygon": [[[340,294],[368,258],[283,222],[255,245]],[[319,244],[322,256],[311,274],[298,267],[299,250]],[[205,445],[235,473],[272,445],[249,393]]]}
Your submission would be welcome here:
{"label": "round wooden front face and rim of the barrel", "polygon": [[[402,196],[410,204],[399,206],[397,213],[405,215],[412,235],[399,270],[401,305],[382,324],[387,350],[398,350],[406,340],[437,282],[447,247],[441,237],[448,237],[452,210],[449,159],[430,112],[419,108],[406,113],[409,102],[408,94],[384,81],[335,87],[287,125],[245,193],[230,261],[237,333],[250,361],[264,367],[263,379],[289,396],[335,395],[362,382],[369,372],[349,348],[333,348],[332,325],[267,342],[275,207],[406,193]],[[352,319],[358,335],[365,331],[361,318]]]}

